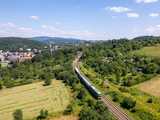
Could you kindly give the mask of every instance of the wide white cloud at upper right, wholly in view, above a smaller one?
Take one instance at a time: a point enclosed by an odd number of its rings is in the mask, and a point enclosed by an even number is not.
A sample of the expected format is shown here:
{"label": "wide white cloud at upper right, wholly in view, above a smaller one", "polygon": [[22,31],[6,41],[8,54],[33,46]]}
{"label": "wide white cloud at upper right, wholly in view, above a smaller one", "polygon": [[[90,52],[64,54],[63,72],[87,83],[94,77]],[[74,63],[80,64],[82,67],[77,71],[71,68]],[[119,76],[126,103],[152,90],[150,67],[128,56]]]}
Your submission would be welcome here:
{"label": "wide white cloud at upper right, wholly in view, above a smaller one", "polygon": [[116,12],[116,13],[124,13],[124,12],[129,12],[131,11],[131,9],[127,8],[127,7],[122,7],[122,6],[113,6],[113,7],[106,7],[106,10],[110,10],[112,12]]}

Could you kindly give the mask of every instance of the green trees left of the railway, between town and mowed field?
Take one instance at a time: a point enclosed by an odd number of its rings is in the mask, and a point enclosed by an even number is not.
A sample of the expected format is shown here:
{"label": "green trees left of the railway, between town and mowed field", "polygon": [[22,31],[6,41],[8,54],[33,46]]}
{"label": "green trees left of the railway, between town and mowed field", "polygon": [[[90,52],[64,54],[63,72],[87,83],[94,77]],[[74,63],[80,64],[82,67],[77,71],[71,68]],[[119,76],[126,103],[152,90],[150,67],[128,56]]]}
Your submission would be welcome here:
{"label": "green trees left of the railway, between town and mowed field", "polygon": [[62,80],[72,89],[74,99],[64,111],[64,115],[79,115],[79,118],[83,120],[104,120],[104,117],[107,116],[105,120],[111,120],[112,115],[107,108],[90,96],[74,73],[72,62],[77,50],[77,48],[68,47],[54,52],[53,55],[46,50],[30,61],[14,63],[12,67],[1,67],[1,89],[37,81],[44,81],[44,85],[49,85],[52,79]]}

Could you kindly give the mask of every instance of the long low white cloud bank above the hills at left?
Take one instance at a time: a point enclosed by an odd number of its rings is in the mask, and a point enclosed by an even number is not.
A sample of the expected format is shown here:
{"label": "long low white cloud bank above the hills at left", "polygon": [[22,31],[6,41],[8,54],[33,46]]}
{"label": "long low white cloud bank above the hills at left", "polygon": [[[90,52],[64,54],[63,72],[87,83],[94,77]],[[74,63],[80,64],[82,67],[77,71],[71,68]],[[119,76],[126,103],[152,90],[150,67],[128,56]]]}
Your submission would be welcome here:
{"label": "long low white cloud bank above the hills at left", "polygon": [[107,38],[106,34],[97,33],[88,30],[66,30],[64,28],[55,27],[52,25],[41,25],[35,29],[26,26],[19,26],[8,22],[0,24],[0,36],[18,36],[18,37],[33,37],[33,36],[56,36],[56,37],[75,37],[80,39],[100,39]]}

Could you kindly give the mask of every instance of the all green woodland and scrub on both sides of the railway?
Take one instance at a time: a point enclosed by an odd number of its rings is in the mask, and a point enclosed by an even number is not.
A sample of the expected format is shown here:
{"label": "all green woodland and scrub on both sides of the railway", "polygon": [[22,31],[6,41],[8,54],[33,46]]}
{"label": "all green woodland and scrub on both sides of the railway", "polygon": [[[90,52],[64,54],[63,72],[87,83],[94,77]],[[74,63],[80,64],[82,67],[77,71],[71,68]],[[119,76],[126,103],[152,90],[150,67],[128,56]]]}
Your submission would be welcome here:
{"label": "all green woodland and scrub on both sides of the railway", "polygon": [[[0,89],[37,81],[44,81],[47,86],[55,78],[62,80],[73,93],[74,101],[66,108],[64,115],[75,114],[80,120],[114,120],[103,103],[89,94],[73,70],[75,56],[82,51],[81,70],[103,94],[124,108],[135,120],[158,120],[159,98],[139,91],[135,86],[160,74],[160,58],[134,51],[160,44],[160,38],[146,36],[133,40],[98,41],[89,46],[84,44],[67,46],[53,54],[44,50],[32,60],[13,63],[11,67],[0,67]],[[105,82],[107,86],[104,86]],[[141,105],[140,97],[145,100]],[[146,105],[153,107],[152,110]]]}

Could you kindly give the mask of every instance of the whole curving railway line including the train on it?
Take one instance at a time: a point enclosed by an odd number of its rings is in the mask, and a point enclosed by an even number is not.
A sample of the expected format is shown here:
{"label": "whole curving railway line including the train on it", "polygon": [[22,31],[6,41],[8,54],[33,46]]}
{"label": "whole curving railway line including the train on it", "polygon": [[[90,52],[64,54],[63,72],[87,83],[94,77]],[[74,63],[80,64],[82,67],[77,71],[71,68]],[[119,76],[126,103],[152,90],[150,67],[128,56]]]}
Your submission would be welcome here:
{"label": "whole curving railway line including the train on it", "polygon": [[133,120],[128,116],[128,114],[123,109],[121,109],[118,105],[113,103],[108,97],[102,95],[102,93],[89,82],[88,78],[83,74],[81,74],[81,71],[79,70],[79,64],[78,64],[79,58],[75,60],[75,63],[73,65],[74,70],[78,75],[78,77],[80,78],[81,82],[92,94],[92,96],[100,99],[104,103],[104,105],[106,105],[108,110],[115,116],[117,120]]}

